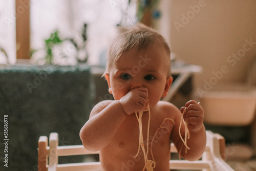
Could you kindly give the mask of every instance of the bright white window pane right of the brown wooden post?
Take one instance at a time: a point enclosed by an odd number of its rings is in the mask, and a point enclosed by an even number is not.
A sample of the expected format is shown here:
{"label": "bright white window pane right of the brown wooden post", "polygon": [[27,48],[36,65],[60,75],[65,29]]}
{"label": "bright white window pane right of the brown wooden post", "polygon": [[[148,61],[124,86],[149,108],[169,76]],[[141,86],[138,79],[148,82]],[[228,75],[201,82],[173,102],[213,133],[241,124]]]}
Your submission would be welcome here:
{"label": "bright white window pane right of the brown wooden post", "polygon": [[136,4],[130,5],[129,8],[127,4],[127,0],[32,1],[31,48],[44,48],[44,39],[55,30],[59,31],[62,38],[81,41],[83,25],[87,24],[88,61],[92,65],[104,65],[105,51],[115,35],[116,25],[120,24],[122,10],[130,10],[132,17],[135,16]]}

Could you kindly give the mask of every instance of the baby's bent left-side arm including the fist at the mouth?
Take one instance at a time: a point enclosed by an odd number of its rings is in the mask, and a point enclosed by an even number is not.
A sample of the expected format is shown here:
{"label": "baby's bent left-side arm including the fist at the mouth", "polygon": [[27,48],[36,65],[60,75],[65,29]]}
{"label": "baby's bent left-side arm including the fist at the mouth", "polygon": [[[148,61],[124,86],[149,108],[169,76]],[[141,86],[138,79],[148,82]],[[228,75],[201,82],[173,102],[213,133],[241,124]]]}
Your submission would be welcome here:
{"label": "baby's bent left-side arm including the fist at the mouth", "polygon": [[80,138],[83,146],[99,151],[110,143],[118,127],[129,114],[142,111],[147,103],[147,89],[133,89],[120,100],[107,100],[96,104],[90,119],[83,125]]}

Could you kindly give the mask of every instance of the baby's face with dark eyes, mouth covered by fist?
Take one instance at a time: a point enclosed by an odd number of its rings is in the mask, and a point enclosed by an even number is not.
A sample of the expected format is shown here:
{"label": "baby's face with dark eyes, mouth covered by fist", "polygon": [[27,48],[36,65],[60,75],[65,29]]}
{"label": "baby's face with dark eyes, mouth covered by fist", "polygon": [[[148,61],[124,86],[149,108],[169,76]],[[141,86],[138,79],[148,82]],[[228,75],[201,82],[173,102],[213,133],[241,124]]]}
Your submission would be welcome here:
{"label": "baby's face with dark eyes, mouth covered by fist", "polygon": [[159,42],[147,49],[138,51],[133,48],[125,52],[109,71],[110,92],[115,100],[119,100],[132,89],[145,87],[148,90],[150,106],[154,106],[161,97],[167,95],[166,89],[169,86],[166,86],[166,82],[172,82],[172,77],[168,77],[168,58]]}

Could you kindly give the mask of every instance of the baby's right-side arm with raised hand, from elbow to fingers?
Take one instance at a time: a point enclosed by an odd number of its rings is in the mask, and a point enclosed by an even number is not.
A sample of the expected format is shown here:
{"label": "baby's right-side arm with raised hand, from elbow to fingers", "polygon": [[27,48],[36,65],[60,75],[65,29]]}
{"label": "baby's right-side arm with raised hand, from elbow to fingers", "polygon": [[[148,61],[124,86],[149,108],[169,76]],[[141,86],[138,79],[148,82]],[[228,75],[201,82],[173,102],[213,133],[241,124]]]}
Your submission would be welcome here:
{"label": "baby's right-side arm with raised hand, from elbow to fingers", "polygon": [[[177,115],[177,119],[175,119],[175,129],[173,133],[174,143],[178,148],[178,151],[181,149],[181,157],[194,161],[201,158],[205,145],[206,145],[206,132],[203,124],[204,111],[200,104],[198,104],[194,100],[190,100],[186,103],[186,111],[184,112],[184,120],[188,123],[189,130],[189,139],[187,139],[187,146],[190,149],[186,150],[186,147],[183,141],[180,139],[178,127],[180,125],[181,114]],[[185,107],[181,108],[181,113],[185,110]],[[178,134],[177,134],[178,133]],[[181,127],[181,135],[184,139],[185,135],[185,126],[182,123]],[[187,152],[187,153],[186,153]]]}

